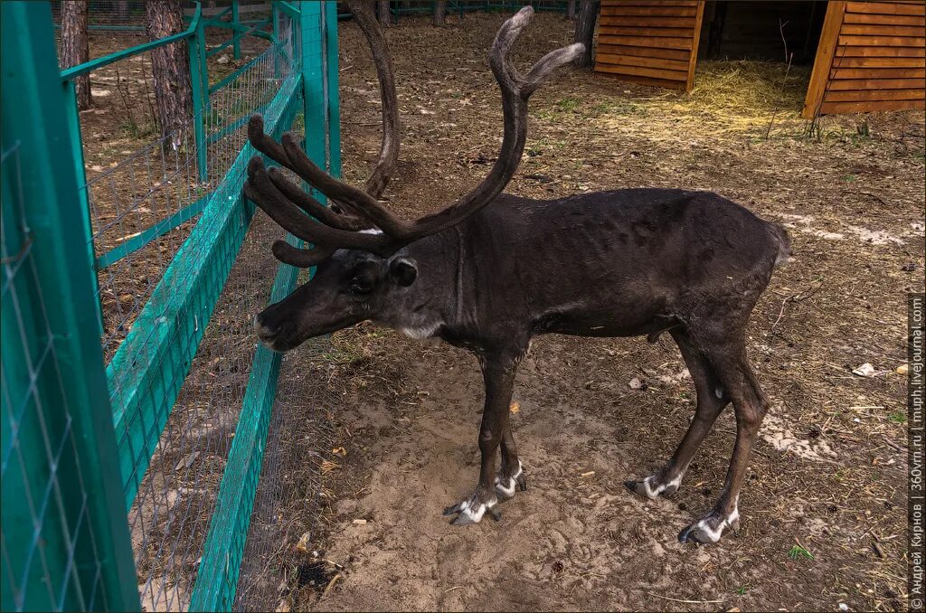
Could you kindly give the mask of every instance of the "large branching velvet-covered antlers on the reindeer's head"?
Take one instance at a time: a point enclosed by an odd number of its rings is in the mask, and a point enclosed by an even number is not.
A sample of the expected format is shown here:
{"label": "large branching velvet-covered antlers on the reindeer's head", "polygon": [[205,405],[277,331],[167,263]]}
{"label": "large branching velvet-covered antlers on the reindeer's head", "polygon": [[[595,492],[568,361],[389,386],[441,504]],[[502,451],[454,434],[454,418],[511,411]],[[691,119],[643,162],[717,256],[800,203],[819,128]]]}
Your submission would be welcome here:
{"label": "large branching velvet-covered antlers on the reindeer's head", "polygon": [[[331,257],[340,248],[390,256],[409,243],[456,225],[492,202],[514,176],[524,152],[528,99],[554,70],[571,62],[584,48],[577,43],[552,51],[534,64],[526,76],[522,76],[512,65],[510,56],[521,31],[531,22],[533,9],[525,6],[507,19],[495,34],[489,56],[495,80],[502,91],[505,120],[502,145],[494,166],[469,194],[437,213],[408,222],[394,217],[377,199],[389,181],[398,154],[395,86],[385,40],[376,20],[369,14],[368,6],[356,1],[348,4],[357,15],[373,50],[383,96],[382,147],[366,190],[338,181],[320,169],[299,147],[294,134],[284,134],[281,145],[264,133],[263,119],[259,116],[251,118],[248,124],[248,137],[258,151],[293,170],[319,192],[357,214],[357,218],[350,218],[326,209],[283,177],[278,169],[265,169],[260,157],[255,156],[248,165],[244,194],[283,228],[316,245],[313,249],[298,249],[284,241],[273,244],[274,256],[303,268]],[[303,215],[299,208],[315,219]],[[382,233],[358,231],[365,222]]]}

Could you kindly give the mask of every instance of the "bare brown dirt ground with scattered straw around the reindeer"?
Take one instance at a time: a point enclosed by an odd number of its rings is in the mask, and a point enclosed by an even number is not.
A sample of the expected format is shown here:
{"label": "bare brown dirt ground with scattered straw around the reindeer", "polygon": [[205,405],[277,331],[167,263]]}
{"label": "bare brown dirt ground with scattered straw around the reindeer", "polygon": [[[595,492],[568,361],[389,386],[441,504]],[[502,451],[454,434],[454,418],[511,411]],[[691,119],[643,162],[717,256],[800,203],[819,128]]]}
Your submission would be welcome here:
{"label": "bare brown dirt ground with scattered straw around the reindeer", "polygon": [[[494,159],[501,111],[485,53],[502,19],[402,19],[387,32],[403,134],[388,195],[407,218],[462,194]],[[519,46],[524,65],[570,30],[539,15]],[[344,172],[359,182],[378,148],[378,93],[355,25],[341,37]],[[807,69],[783,89],[782,66],[697,74],[690,95],[584,70],[557,77],[532,99],[507,191],[709,189],[789,228],[794,257],[749,327],[771,409],[741,531],[712,546],[676,540],[720,491],[732,411],[679,493],[647,501],[622,485],[669,457],[694,412],[668,336],[537,338],[512,415],[529,489],[501,521],[455,528],[441,510],[477,479],[476,360],[363,324],[284,363],[284,378],[298,372],[307,393],[338,400],[317,407],[337,436],[321,463],[317,556],[291,554],[280,609],[906,608],[906,377],[895,369],[907,293],[923,291],[923,114],[824,118],[808,137]],[[874,374],[853,374],[864,363]]]}

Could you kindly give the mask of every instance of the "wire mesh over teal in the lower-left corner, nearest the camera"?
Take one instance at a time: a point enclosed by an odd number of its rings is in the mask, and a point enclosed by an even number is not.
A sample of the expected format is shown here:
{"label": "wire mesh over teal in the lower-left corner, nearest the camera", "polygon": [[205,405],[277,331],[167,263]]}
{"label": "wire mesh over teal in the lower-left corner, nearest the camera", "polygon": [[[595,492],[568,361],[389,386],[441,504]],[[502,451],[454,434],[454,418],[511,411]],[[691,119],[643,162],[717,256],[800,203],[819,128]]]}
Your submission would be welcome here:
{"label": "wire mesh over teal in the lower-left corner, nearest the camera", "polygon": [[[32,231],[25,213],[19,144],[0,155],[4,215],[0,232],[5,329],[2,362],[4,492],[24,496],[17,506],[4,504],[3,567],[5,592],[17,610],[29,587],[49,609],[105,607],[94,529],[87,521],[83,466],[77,453],[68,392],[56,352],[55,334],[46,315]],[[66,367],[64,367],[66,368]],[[74,505],[74,501],[82,501]],[[16,530],[9,530],[16,526]],[[15,543],[14,541],[19,541]],[[63,559],[45,543],[64,544]],[[16,555],[14,552],[19,552]],[[77,563],[82,552],[89,567]],[[81,581],[78,573],[89,574]],[[6,597],[4,598],[6,608]],[[31,605],[38,602],[34,599]]]}

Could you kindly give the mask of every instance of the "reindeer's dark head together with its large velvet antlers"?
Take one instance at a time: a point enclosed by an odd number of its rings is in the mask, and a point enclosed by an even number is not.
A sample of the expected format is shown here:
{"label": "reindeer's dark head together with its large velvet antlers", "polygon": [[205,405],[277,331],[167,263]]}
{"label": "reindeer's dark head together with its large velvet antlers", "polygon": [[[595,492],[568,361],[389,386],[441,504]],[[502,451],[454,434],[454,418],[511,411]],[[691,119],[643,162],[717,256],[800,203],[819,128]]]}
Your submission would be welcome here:
{"label": "reindeer's dark head together with its large velvet antlers", "polygon": [[[501,193],[518,169],[527,138],[527,101],[557,68],[582,53],[571,44],[548,53],[521,75],[511,64],[511,51],[520,32],[533,17],[525,6],[507,19],[495,35],[489,63],[502,93],[504,137],[489,174],[469,194],[443,210],[405,221],[382,206],[379,197],[398,157],[398,106],[389,52],[370,3],[348,2],[373,53],[382,94],[382,146],[380,157],[365,189],[334,179],[319,169],[299,147],[293,133],[276,143],[264,133],[263,119],[251,118],[248,138],[257,151],[293,170],[325,194],[332,207],[322,206],[279,169],[266,169],[260,156],[248,165],[244,194],[285,230],[314,246],[296,248],[285,241],[272,246],[282,262],[308,268],[317,266],[312,279],[267,307],[255,319],[260,340],[271,349],[286,351],[308,338],[340,330],[364,319],[384,318],[384,309],[401,309],[414,291],[418,263],[402,256],[403,247],[451,228],[488,205]],[[300,210],[302,209],[302,210]],[[308,215],[305,215],[304,212]]]}

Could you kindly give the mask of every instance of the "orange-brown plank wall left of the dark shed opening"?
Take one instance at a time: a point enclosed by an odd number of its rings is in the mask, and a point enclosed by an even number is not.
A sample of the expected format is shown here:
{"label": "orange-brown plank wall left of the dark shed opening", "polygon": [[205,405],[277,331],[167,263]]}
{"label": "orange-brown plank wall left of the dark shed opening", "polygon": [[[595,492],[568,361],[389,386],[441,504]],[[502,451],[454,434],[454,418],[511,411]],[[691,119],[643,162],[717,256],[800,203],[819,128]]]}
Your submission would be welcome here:
{"label": "orange-brown plank wall left of the dark shed opening", "polygon": [[703,15],[697,0],[602,0],[594,69],[688,91]]}

